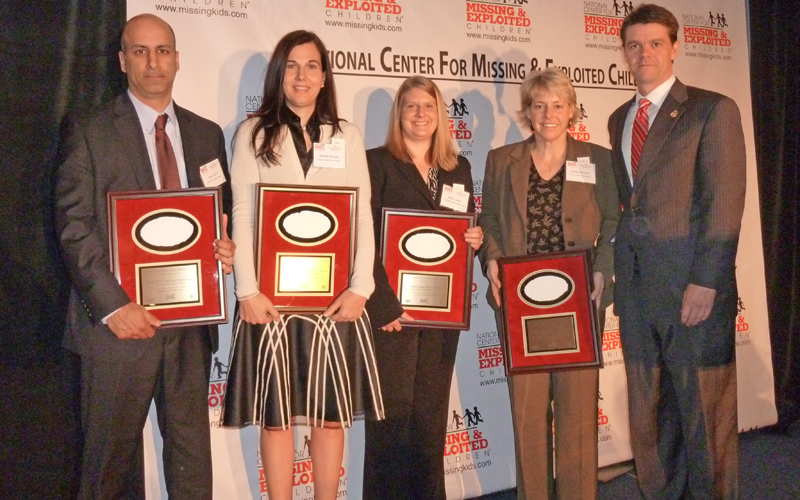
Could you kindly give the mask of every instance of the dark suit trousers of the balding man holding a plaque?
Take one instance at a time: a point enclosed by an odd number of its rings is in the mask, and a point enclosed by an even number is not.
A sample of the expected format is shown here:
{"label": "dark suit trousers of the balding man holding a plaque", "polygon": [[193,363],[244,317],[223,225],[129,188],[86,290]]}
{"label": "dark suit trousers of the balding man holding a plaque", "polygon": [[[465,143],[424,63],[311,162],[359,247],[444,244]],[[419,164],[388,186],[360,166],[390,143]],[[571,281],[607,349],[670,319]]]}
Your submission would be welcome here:
{"label": "dark suit trousers of the balding man holding a plaque", "polygon": [[169,497],[210,500],[207,329],[158,329],[146,340],[93,333],[81,352],[79,498],[145,498],[142,430],[155,399]]}

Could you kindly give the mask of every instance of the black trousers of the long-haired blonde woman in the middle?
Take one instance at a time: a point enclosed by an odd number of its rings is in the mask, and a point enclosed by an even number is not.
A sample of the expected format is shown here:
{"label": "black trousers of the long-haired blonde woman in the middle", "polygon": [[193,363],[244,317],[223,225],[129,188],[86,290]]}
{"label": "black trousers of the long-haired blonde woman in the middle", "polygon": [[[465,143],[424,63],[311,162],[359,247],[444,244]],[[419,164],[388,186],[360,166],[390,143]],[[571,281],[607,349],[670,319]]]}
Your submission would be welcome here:
{"label": "black trousers of the long-haired blonde woman in the middle", "polygon": [[458,331],[376,330],[386,420],[366,422],[364,500],[444,500],[444,443]]}

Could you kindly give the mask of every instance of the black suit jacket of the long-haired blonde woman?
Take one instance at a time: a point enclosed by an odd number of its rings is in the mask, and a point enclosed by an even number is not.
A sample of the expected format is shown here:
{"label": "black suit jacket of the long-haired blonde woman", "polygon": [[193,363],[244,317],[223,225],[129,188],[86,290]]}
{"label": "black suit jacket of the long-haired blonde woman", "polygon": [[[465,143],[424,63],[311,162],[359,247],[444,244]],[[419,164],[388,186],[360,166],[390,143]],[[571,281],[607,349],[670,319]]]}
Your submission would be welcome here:
{"label": "black suit jacket of the long-haired blonde woman", "polygon": [[386,270],[378,255],[381,234],[381,210],[386,208],[417,210],[450,210],[439,206],[444,186],[462,184],[464,191],[470,193],[467,212],[475,211],[472,196],[472,170],[469,161],[458,157],[456,168],[439,170],[439,190],[436,199],[431,196],[428,185],[419,175],[417,167],[398,160],[385,147],[367,151],[367,164],[372,184],[372,219],[375,222],[375,291],[367,301],[367,313],[372,326],[379,328],[391,323],[403,314],[403,307],[389,285]]}

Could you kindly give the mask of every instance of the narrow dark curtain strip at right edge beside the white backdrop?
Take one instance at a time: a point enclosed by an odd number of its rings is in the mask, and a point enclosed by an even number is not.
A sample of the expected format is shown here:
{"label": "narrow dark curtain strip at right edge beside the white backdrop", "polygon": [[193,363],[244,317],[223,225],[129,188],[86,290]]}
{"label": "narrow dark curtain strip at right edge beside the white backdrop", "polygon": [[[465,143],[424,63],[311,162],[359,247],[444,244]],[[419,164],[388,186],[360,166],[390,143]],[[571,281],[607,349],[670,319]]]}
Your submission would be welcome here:
{"label": "narrow dark curtain strip at right edge beside the white backdrop", "polygon": [[778,429],[800,417],[800,11],[750,0],[753,96],[764,265]]}

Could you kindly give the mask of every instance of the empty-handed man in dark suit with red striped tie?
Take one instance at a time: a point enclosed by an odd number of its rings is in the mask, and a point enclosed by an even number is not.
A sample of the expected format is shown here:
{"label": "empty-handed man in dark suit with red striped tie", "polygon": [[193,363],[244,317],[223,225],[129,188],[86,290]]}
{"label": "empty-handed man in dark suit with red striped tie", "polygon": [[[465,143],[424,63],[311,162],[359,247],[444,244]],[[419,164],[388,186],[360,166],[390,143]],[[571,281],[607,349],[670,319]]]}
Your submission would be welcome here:
{"label": "empty-handed man in dark suit with red striped tie", "polygon": [[656,5],[625,18],[637,93],[608,124],[623,205],[615,307],[631,444],[646,498],[734,498],[744,134],[731,99],[673,76],[678,28]]}

